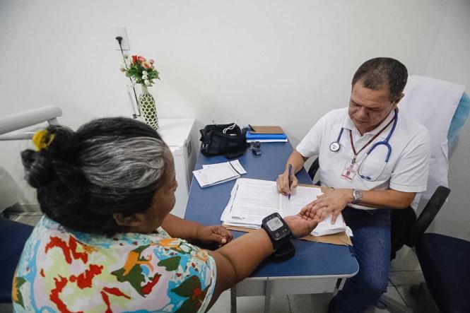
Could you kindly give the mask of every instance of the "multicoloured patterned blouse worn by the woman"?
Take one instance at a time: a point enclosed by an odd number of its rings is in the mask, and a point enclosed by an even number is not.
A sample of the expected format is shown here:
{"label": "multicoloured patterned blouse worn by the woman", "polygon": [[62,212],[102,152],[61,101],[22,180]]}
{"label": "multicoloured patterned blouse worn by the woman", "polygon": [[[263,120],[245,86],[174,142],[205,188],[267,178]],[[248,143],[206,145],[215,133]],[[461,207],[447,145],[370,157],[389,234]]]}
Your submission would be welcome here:
{"label": "multicoloured patterned blouse worn by the woman", "polygon": [[205,312],[216,285],[206,251],[151,235],[90,235],[42,218],[13,277],[16,312]]}

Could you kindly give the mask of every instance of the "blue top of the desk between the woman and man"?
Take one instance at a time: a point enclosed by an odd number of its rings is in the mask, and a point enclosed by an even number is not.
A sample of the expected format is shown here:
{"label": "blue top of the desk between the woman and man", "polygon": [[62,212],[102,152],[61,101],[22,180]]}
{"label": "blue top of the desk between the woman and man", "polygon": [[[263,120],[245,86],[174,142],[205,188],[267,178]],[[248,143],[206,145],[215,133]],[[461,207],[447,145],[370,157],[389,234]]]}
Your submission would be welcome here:
{"label": "blue top of the desk between the woman and man", "polygon": [[[247,171],[243,178],[276,180],[283,172],[286,160],[292,153],[290,143],[262,143],[262,155],[254,155],[250,150],[238,159]],[[199,153],[196,170],[203,164],[227,162],[223,156],[205,157]],[[297,174],[302,184],[312,184],[307,172],[302,169]],[[203,225],[221,224],[221,214],[230,199],[230,191],[235,180],[202,189],[196,179],[192,179],[185,219],[195,220]],[[234,237],[245,232],[232,231]],[[358,269],[358,262],[351,249],[335,244],[292,240],[295,256],[288,261],[274,264],[266,259],[250,277],[295,277],[295,276],[353,276]],[[247,257],[249,252],[247,251]]]}

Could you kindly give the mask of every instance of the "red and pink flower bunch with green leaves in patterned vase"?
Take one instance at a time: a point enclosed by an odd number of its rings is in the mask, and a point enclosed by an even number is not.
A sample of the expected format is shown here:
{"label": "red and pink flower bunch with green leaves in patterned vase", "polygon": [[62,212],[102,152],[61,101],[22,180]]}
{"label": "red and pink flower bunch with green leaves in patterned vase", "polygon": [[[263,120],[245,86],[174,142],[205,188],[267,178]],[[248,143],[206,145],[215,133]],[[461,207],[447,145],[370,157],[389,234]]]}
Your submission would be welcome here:
{"label": "red and pink flower bunch with green leaves in patterned vase", "polygon": [[126,73],[126,76],[135,83],[151,86],[154,79],[160,79],[153,59],[147,60],[139,55],[133,55],[129,66],[127,66],[127,59],[129,59],[129,56],[124,54],[124,65],[121,66],[121,71]]}

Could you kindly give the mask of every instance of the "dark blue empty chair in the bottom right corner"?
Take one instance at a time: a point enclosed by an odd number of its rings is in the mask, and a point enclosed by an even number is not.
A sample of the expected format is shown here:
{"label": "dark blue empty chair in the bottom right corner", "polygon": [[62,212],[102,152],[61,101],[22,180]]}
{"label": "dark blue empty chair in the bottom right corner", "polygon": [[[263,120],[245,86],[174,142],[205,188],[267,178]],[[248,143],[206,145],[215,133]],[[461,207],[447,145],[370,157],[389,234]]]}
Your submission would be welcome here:
{"label": "dark blue empty chair in the bottom right corner", "polygon": [[444,313],[470,312],[470,242],[427,233],[416,254],[437,307]]}

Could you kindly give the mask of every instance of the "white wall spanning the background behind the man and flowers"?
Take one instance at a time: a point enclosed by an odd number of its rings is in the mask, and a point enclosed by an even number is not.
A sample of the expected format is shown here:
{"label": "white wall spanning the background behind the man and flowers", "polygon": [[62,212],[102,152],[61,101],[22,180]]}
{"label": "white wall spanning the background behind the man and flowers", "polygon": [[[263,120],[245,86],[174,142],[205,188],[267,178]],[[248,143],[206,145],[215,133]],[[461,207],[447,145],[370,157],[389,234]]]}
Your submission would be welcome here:
{"label": "white wall spanning the background behind the man and flowers", "polygon": [[[9,114],[59,105],[73,128],[131,116],[112,43],[111,26],[124,25],[132,52],[157,61],[160,117],[279,124],[295,144],[347,105],[352,75],[371,57],[469,86],[469,20],[469,1],[458,0],[1,0],[0,106]],[[27,145],[0,143],[0,164],[23,187],[18,151]],[[470,202],[469,148],[462,140],[451,160],[449,204],[459,215]]]}

